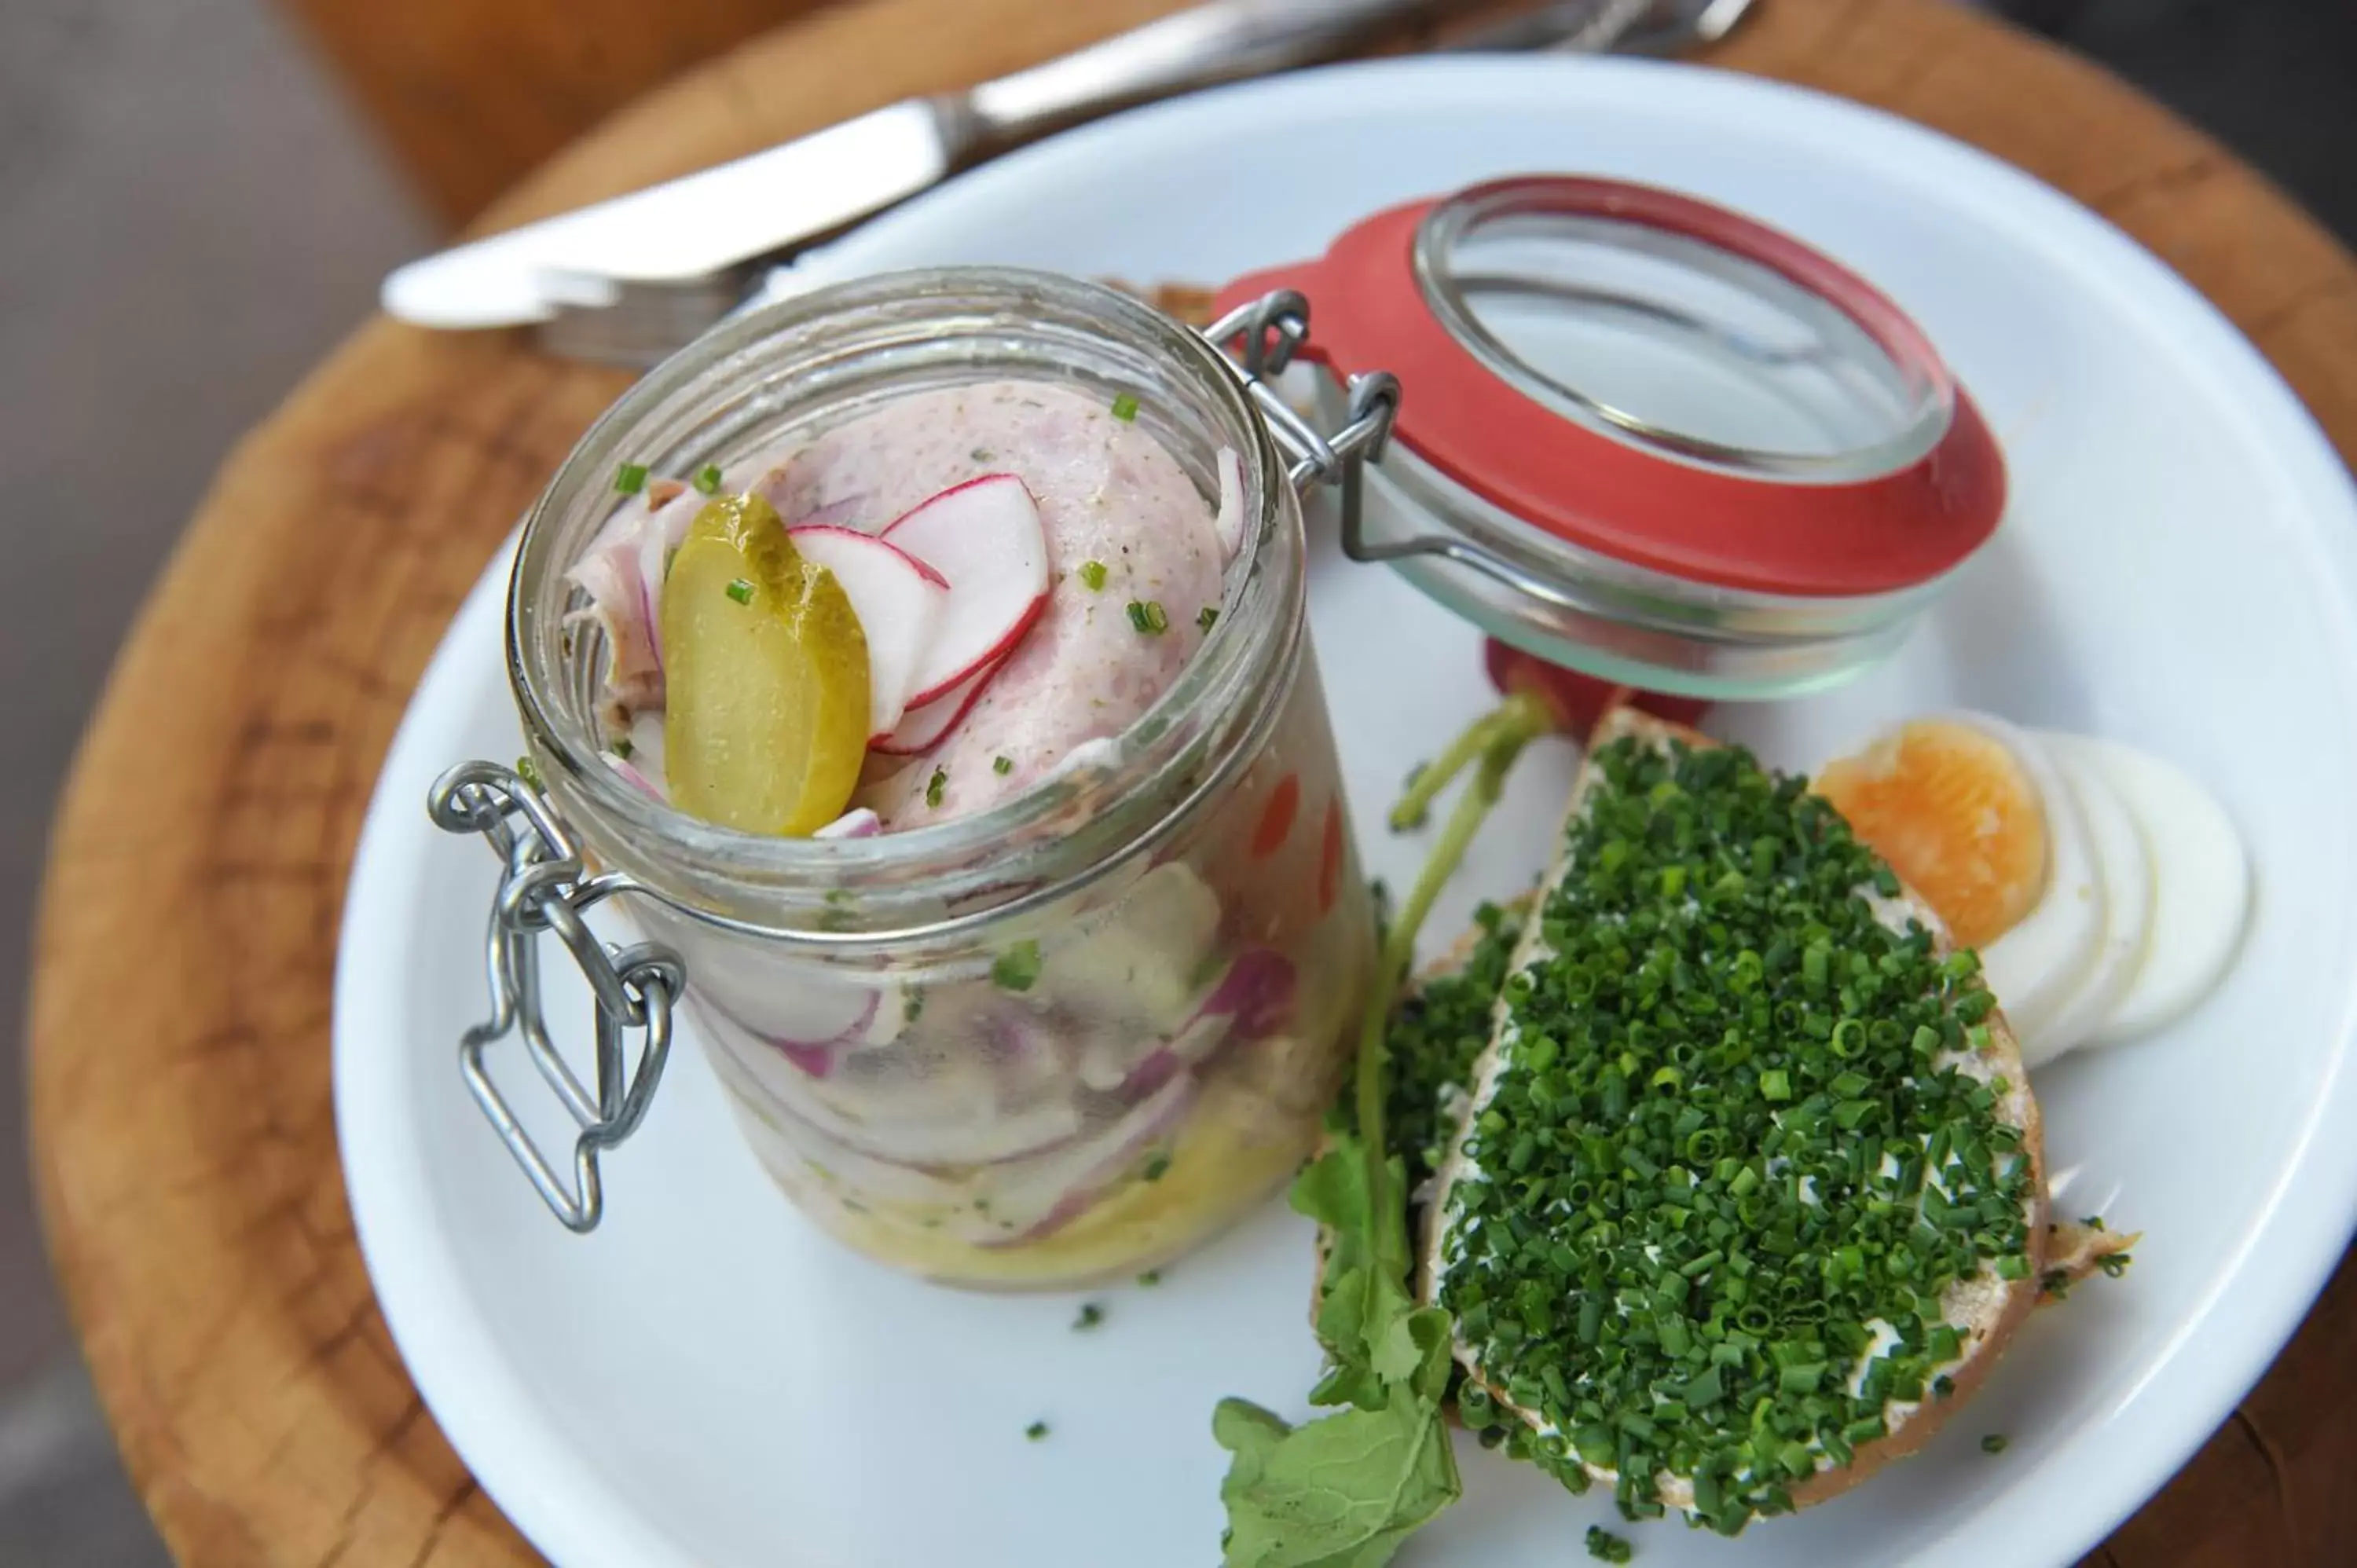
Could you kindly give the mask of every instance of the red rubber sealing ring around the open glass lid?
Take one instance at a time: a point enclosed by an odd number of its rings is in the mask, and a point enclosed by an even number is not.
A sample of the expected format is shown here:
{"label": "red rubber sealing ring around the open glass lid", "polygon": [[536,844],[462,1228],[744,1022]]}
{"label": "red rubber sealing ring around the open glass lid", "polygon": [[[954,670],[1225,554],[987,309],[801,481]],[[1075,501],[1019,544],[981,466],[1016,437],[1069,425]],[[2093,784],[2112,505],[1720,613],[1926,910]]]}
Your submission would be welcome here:
{"label": "red rubber sealing ring around the open glass lid", "polygon": [[[1949,389],[1947,429],[1904,467],[1853,481],[1796,481],[1681,462],[1549,408],[1483,363],[1433,314],[1414,269],[1419,226],[1442,200],[1518,189],[1544,196],[1551,215],[1659,229],[1831,302],[1893,361],[1937,370]],[[1237,278],[1221,290],[1219,309],[1277,288],[1310,302],[1303,358],[1336,375],[1400,377],[1395,441],[1473,495],[1603,556],[1763,594],[1886,594],[1959,566],[2003,514],[2006,465],[1996,439],[1921,328],[1838,262],[1692,196],[1584,177],[1475,186],[1376,212],[1320,259]]]}

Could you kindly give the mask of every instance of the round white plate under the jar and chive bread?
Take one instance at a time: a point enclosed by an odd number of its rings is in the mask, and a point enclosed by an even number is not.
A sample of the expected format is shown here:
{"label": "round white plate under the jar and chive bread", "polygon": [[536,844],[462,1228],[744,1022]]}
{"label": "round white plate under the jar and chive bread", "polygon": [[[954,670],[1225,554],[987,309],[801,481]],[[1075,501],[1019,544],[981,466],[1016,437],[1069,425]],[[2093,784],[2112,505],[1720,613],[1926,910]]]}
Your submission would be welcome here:
{"label": "round white plate under the jar and chive bread", "polygon": [[[1813,764],[1876,724],[1987,707],[2199,773],[2258,905],[2185,1023],[2039,1080],[2058,1207],[2143,1228],[2121,1283],[2041,1313],[1989,1391],[1871,1485],[1737,1544],[1638,1528],[1645,1563],[2069,1563],[2225,1417],[2357,1210],[2357,505],[2267,365],[2152,257],[2053,191],[1831,99],[1690,68],[1412,61],[1136,113],[1009,158],[839,245],[830,269],[1021,262],[1228,278],[1348,219],[1523,170],[1652,179],[1782,224],[1890,290],[2011,448],[1999,540],[1907,651],[1798,705],[1721,712]],[[1414,389],[1409,389],[1414,396]],[[460,1087],[493,865],[427,783],[511,757],[497,561],[427,672],[354,868],[337,981],[344,1170],[420,1389],[486,1490],[568,1568],[973,1563],[1197,1568],[1216,1554],[1214,1398],[1301,1415],[1308,1228],[1270,1210],[1157,1290],[933,1290],[823,1240],[684,1049],[575,1238]],[[1468,627],[1325,549],[1310,589],[1358,825],[1487,700]],[[1539,865],[1570,759],[1525,769],[1459,901]],[[514,1066],[514,1063],[509,1063]],[[1047,1419],[1051,1436],[1023,1429]],[[2001,1457],[1980,1436],[2003,1431]],[[1402,1561],[1565,1563],[1600,1497],[1466,1445],[1466,1502]]]}

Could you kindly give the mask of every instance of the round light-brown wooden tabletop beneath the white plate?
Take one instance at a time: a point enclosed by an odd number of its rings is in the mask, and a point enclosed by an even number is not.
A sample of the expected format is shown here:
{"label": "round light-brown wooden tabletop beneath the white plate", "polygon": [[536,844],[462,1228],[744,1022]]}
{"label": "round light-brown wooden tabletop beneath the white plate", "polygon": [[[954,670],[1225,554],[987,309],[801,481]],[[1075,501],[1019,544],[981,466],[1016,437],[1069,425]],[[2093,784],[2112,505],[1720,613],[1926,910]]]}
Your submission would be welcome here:
{"label": "round light-brown wooden tabletop beneath the white plate", "polygon": [[[493,224],[1082,42],[1174,0],[870,0],[702,68]],[[1978,141],[2216,299],[2357,457],[2357,264],[2100,71],[1937,0],[1768,0],[1718,64]],[[354,1247],[328,1096],[337,908],[443,622],[625,377],[521,337],[361,328],[229,457],[57,823],[33,997],[49,1245],[191,1568],[528,1563],[417,1401]],[[2357,1561],[2357,1269],[2091,1561]],[[1567,1542],[1565,1551],[1574,1551]]]}

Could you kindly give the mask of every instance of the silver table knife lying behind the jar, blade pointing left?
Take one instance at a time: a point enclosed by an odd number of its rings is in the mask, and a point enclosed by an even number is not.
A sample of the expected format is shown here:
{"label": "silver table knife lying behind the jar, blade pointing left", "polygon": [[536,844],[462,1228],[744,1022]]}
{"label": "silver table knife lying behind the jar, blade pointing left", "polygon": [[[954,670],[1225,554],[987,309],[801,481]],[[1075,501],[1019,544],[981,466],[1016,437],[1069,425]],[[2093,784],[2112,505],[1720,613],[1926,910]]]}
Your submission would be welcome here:
{"label": "silver table knife lying behind the jar, blade pointing left", "polygon": [[856,120],[410,262],[389,316],[504,328],[599,309],[625,290],[705,285],[834,233],[997,151],[1098,113],[1339,59],[1447,0],[1211,0],[1075,54]]}

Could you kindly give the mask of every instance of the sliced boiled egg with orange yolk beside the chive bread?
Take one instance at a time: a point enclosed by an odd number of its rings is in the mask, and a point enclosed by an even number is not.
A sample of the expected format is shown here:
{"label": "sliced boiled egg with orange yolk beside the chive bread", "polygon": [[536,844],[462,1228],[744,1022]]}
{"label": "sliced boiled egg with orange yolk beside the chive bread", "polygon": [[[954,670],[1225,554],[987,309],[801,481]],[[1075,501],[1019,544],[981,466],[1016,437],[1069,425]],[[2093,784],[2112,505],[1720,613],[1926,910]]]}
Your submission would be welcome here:
{"label": "sliced boiled egg with orange yolk beside the chive bread", "polygon": [[2171,1023],[2242,941],[2234,823],[2117,740],[1940,714],[1827,764],[1817,792],[1980,950],[2032,1068]]}

